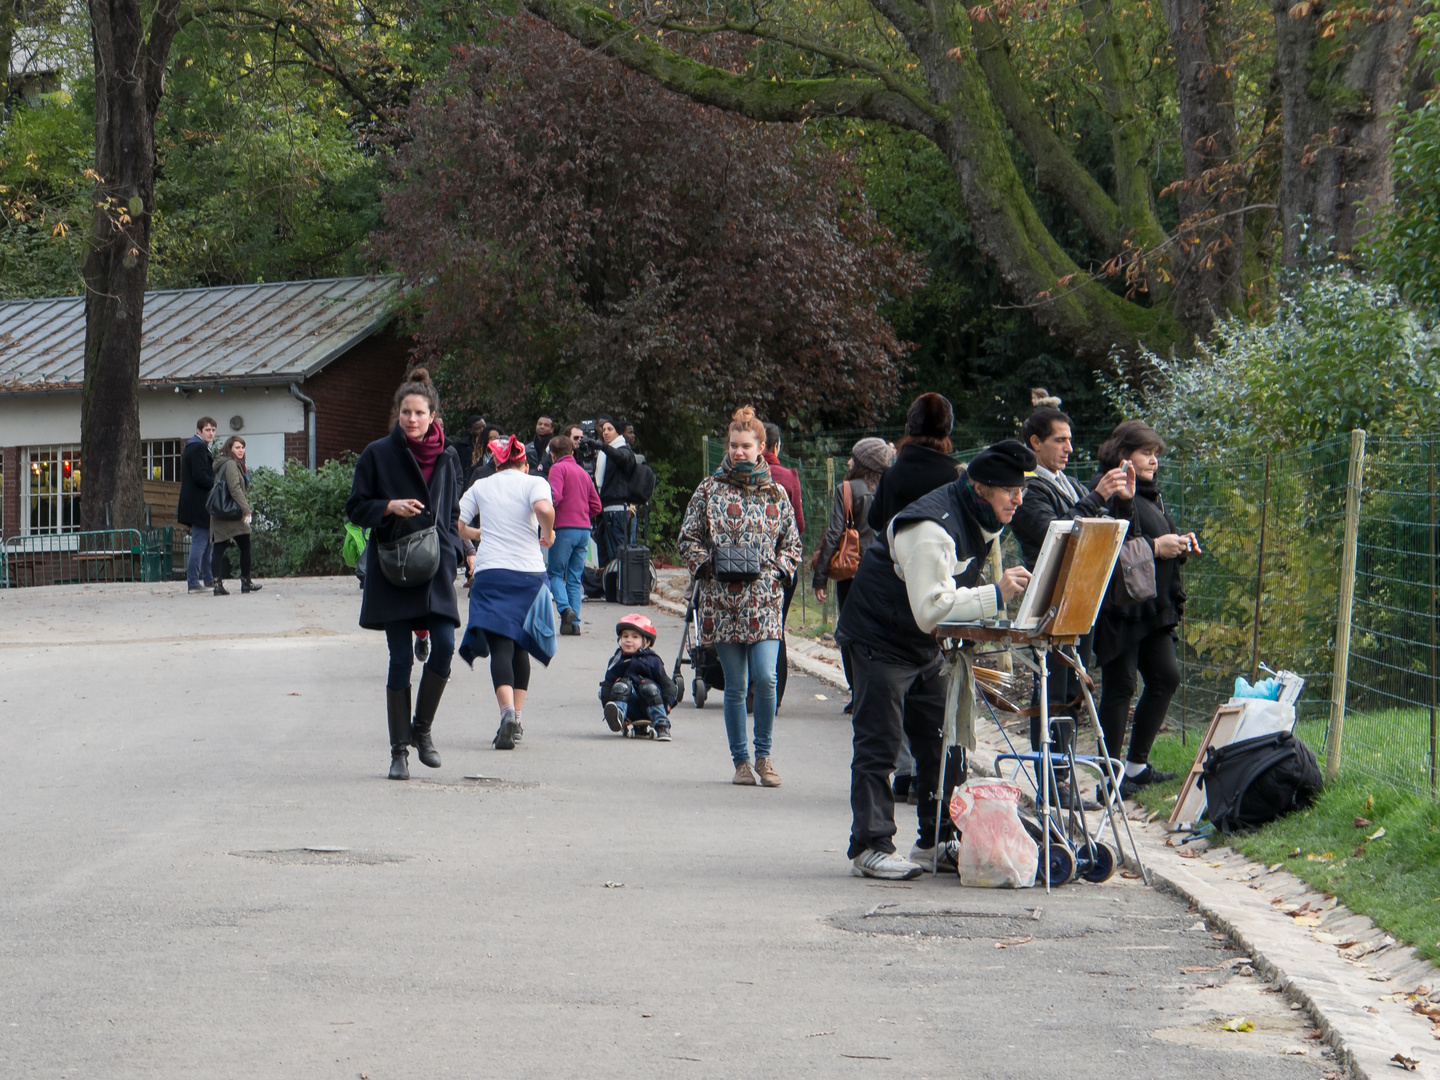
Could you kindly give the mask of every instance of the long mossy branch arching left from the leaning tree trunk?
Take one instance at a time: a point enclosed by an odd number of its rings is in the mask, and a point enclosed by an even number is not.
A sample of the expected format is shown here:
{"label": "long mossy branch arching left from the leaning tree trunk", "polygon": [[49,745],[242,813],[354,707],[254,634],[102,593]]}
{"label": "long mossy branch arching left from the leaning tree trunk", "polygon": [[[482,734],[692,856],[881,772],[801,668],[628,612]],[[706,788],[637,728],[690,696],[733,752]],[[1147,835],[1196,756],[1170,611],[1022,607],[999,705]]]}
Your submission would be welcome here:
{"label": "long mossy branch arching left from the leaning tree trunk", "polygon": [[897,94],[876,78],[763,82],[681,56],[657,45],[631,23],[576,0],[524,0],[524,4],[582,45],[605,52],[626,68],[704,105],[760,121],[863,117],[883,120],[927,138],[935,138],[939,131],[935,105],[920,108],[909,95]]}

